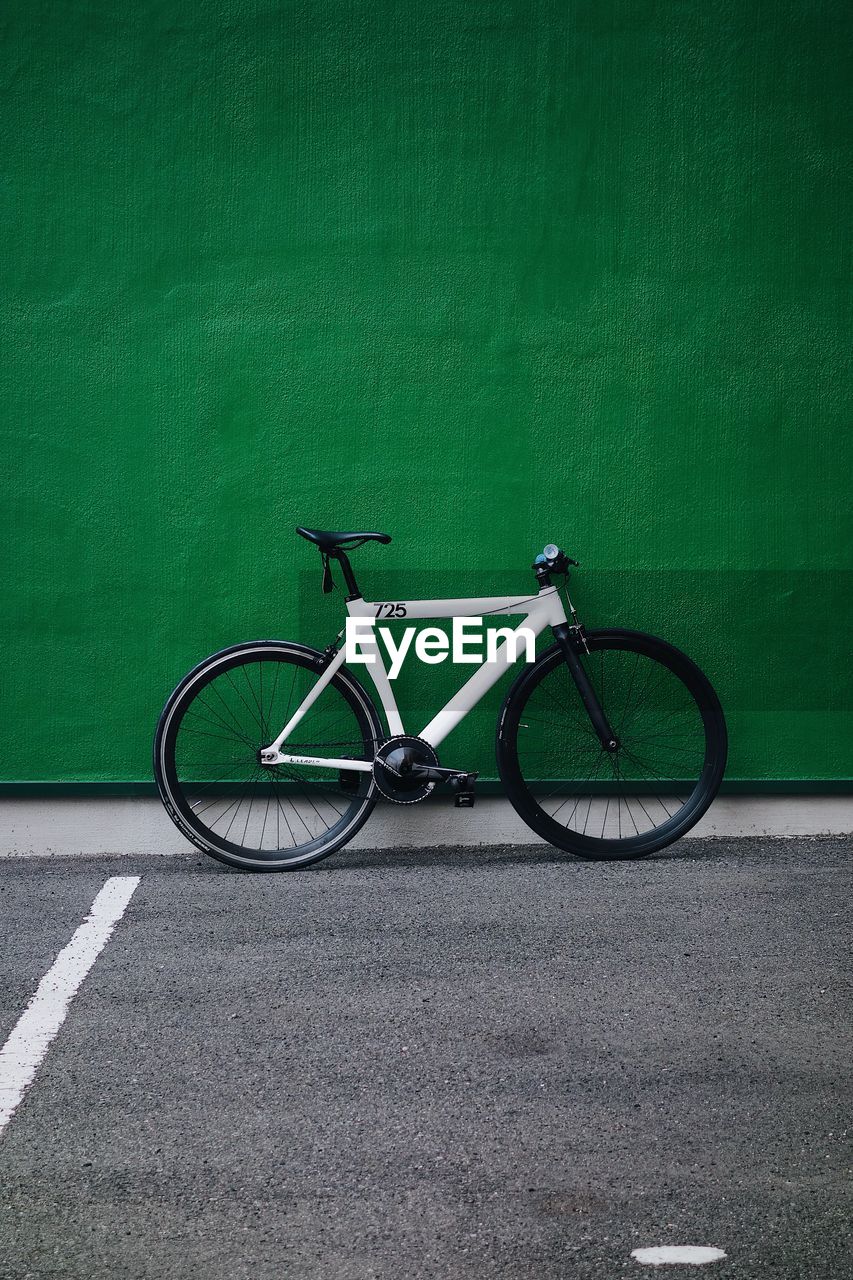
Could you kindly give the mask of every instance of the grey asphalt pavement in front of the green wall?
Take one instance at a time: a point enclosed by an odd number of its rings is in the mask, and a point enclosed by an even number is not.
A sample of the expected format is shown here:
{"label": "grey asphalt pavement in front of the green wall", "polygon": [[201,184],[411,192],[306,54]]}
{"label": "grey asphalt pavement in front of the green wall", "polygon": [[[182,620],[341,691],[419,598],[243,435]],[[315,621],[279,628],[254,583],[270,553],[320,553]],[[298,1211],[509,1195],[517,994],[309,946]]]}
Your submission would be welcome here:
{"label": "grey asphalt pavement in front of the green wall", "polygon": [[849,1276],[852,847],[5,860],[0,1043],[141,882],[0,1137],[0,1275]]}

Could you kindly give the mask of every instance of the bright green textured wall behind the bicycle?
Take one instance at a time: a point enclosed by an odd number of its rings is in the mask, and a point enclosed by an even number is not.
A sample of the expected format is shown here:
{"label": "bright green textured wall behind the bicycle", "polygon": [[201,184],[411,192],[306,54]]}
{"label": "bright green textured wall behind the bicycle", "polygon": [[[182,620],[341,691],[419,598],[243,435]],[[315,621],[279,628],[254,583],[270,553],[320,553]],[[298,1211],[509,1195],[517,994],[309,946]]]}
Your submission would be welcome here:
{"label": "bright green textured wall behind the bicycle", "polygon": [[190,664],[325,644],[301,522],[378,598],[553,539],[731,778],[849,777],[850,13],[6,0],[3,777],[150,778]]}

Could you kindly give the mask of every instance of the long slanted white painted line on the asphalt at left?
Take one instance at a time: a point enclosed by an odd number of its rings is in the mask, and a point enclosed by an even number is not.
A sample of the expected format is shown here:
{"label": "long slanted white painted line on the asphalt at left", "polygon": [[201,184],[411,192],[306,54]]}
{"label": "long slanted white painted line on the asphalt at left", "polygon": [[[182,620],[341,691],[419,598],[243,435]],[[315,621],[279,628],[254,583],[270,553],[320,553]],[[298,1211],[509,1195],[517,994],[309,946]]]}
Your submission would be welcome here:
{"label": "long slanted white painted line on the asphalt at left", "polygon": [[106,881],[0,1048],[0,1133],[32,1084],[77,989],[124,915],[138,883],[138,876],[113,876]]}

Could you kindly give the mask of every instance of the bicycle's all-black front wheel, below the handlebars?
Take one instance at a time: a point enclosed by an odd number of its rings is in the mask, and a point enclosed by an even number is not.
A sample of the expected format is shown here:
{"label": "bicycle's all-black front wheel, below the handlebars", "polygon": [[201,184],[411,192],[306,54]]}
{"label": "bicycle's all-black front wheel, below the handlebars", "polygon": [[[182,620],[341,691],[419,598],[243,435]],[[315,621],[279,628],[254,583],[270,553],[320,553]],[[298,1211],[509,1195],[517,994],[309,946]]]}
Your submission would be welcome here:
{"label": "bicycle's all-black front wheel, below the handlebars", "polygon": [[583,666],[612,726],[606,751],[557,645],[507,694],[497,763],[520,817],[580,858],[646,858],[693,827],[726,763],[726,724],[707,677],[639,631],[592,631]]}

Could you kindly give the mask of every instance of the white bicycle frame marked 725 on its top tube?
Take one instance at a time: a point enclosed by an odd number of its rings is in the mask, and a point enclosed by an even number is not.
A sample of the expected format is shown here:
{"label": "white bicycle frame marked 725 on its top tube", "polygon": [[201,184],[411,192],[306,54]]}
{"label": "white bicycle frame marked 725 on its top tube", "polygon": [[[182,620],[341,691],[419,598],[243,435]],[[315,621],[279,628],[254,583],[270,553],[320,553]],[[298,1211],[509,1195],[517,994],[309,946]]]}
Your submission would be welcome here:
{"label": "white bicycle frame marked 725 on its top tube", "polygon": [[[524,640],[525,630],[538,636],[546,627],[566,622],[566,611],[556,586],[544,586],[533,596],[484,595],[460,600],[398,600],[393,602],[393,604],[394,613],[386,616],[382,614],[382,609],[388,608],[388,602],[362,600],[359,596],[357,599],[347,600],[347,612],[352,618],[379,620],[382,616],[383,621],[396,618],[411,621],[412,618],[480,618],[487,614],[489,617],[524,614],[524,621],[506,636],[494,653],[494,657],[491,660],[485,659],[480,663],[474,675],[465,681],[462,687],[453,694],[451,700],[420,731],[418,737],[423,739],[424,742],[429,742],[430,746],[438,746],[451,730],[456,728],[465,719],[471,708],[476,707],[479,700],[497,684],[501,676],[514,666],[519,641]],[[510,646],[512,648],[512,658],[510,658]],[[386,713],[389,733],[392,736],[405,733],[400,709],[397,708],[397,699],[391,687],[391,680],[388,678],[386,663],[375,636],[366,636],[361,640],[360,649],[366,657],[373,658],[373,663],[366,664],[365,671],[370,675],[375,685]],[[329,681],[334,678],[336,672],[343,666],[345,657],[345,649],[341,648],[314,687],[296,708],[275,741],[263,749],[261,759],[264,764],[319,764],[327,765],[330,769],[347,769],[352,773],[373,772],[373,760],[332,759],[329,756],[293,755],[282,751],[282,746],[287,742],[296,726],[314,705]]]}

